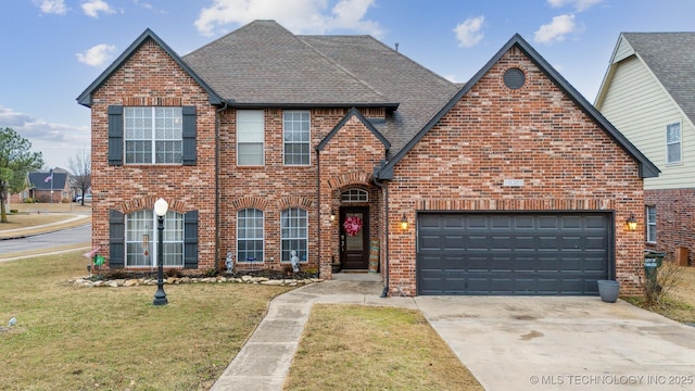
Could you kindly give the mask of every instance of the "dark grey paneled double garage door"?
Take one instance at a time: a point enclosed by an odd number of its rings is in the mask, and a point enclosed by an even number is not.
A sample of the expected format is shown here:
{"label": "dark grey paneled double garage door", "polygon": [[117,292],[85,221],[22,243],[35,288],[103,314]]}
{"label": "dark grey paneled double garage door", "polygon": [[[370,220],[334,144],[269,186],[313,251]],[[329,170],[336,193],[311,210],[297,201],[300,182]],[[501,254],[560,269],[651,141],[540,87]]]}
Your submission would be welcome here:
{"label": "dark grey paneled double garage door", "polygon": [[598,294],[608,213],[418,214],[418,294]]}

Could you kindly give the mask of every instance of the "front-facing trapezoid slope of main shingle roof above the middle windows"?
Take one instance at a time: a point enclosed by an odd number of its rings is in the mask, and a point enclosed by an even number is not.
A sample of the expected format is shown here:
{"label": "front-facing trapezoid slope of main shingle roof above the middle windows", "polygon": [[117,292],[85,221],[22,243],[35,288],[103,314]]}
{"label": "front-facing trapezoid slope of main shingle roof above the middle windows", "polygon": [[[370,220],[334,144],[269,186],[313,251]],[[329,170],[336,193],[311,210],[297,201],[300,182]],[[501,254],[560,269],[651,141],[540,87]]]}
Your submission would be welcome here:
{"label": "front-facing trapezoid slope of main shingle roof above the middle windows", "polygon": [[184,60],[236,105],[394,103],[273,21],[252,22]]}

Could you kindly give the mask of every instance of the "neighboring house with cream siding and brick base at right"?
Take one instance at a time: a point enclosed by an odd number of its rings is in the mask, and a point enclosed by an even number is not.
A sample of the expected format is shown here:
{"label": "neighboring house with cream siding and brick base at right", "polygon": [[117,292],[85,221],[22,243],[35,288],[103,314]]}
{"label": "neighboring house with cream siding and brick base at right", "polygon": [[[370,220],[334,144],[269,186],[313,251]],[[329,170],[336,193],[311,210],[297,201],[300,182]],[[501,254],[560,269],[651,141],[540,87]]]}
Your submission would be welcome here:
{"label": "neighboring house with cream siding and brick base at right", "polygon": [[644,181],[646,248],[693,265],[695,33],[620,34],[595,105],[662,172]]}

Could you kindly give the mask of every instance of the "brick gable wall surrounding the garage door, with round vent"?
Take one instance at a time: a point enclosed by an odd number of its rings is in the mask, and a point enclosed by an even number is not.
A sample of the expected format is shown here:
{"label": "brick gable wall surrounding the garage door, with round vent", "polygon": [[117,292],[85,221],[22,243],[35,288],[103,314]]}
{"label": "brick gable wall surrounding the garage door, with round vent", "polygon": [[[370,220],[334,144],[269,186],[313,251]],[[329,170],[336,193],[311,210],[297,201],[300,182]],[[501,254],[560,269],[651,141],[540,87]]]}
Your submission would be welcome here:
{"label": "brick gable wall surrounding the garage door, with round vent", "polygon": [[[509,67],[526,73],[522,88],[504,86]],[[415,222],[424,210],[615,211],[617,278],[623,293],[639,289],[643,242],[626,229],[643,209],[637,164],[515,49],[399,162],[394,178],[391,292],[416,293]],[[503,187],[504,179],[525,185]],[[399,229],[403,213],[407,231]]]}

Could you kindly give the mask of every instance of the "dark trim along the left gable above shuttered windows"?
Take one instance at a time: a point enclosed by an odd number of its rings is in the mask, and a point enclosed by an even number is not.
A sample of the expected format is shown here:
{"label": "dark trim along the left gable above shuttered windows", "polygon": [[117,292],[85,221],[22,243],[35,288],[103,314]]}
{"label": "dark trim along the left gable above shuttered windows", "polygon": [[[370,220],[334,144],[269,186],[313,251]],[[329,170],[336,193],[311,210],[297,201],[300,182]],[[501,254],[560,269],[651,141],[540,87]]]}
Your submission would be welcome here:
{"label": "dark trim along the left gable above shuttered windows", "polygon": [[184,71],[186,71],[206,92],[210,99],[211,104],[222,104],[224,101],[222,98],[187,64],[181,58],[176,54],[168,45],[166,45],[160,37],[154,34],[151,29],[146,29],[130,46],[111,64],[109,67],[102,72],[99,77],[92,81],[83,93],[77,97],[77,102],[79,104],[91,108],[92,104],[92,94],[96,90],[98,90],[118,68],[128,61],[132,54],[135,54],[140,47],[147,40],[153,40],[156,45],[159,45],[162,50],[164,50]]}

